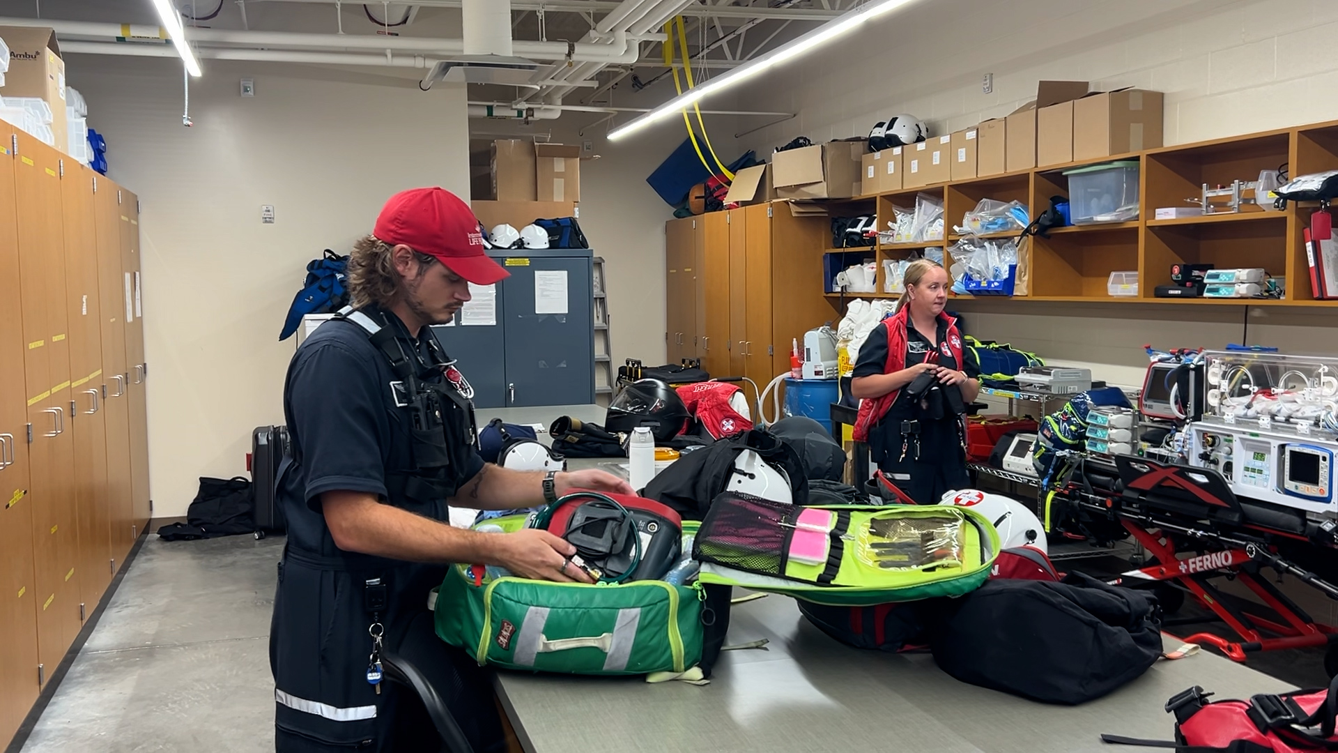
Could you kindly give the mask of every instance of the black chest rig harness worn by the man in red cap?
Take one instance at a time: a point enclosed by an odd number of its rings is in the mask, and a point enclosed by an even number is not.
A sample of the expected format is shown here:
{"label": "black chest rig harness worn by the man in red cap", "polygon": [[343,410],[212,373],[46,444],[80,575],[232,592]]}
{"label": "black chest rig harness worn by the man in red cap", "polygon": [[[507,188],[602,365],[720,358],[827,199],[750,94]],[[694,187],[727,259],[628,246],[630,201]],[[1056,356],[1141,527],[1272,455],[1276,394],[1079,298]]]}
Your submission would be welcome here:
{"label": "black chest rig harness worn by the man in red cap", "polygon": [[[468,481],[460,474],[476,452],[474,387],[446,355],[431,327],[423,335],[424,358],[419,348],[404,347],[396,338],[400,327],[375,307],[345,307],[334,318],[361,327],[396,376],[388,389],[407,419],[413,461],[411,468],[387,472],[387,490],[417,504],[455,496],[460,484]],[[444,382],[439,381],[443,375]]]}

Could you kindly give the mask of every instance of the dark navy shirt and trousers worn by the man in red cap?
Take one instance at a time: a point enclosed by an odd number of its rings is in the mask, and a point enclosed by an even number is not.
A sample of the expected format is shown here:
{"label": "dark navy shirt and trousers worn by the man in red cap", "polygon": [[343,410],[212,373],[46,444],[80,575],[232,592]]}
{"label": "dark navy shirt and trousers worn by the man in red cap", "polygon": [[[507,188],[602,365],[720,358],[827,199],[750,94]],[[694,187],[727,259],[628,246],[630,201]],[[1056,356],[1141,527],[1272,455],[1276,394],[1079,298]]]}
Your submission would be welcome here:
{"label": "dark navy shirt and trousers worn by the man in red cap", "polygon": [[[431,363],[424,343],[409,336],[393,315],[385,319],[404,352],[416,350]],[[424,381],[434,379],[444,376]],[[413,470],[413,449],[411,415],[396,405],[392,382],[399,376],[387,356],[352,322],[321,324],[288,370],[284,415],[294,462],[282,473],[276,494],[288,517],[288,544],[270,628],[281,753],[349,746],[400,750],[431,730],[412,691],[383,681],[377,694],[367,681],[373,620],[384,626],[385,651],[428,673],[475,749],[500,740],[487,679],[432,631],[427,596],[442,583],[446,565],[345,552],[334,545],[321,512],[324,492],[349,490],[448,521],[446,500],[413,501],[395,490],[391,476]],[[483,460],[474,452],[462,465],[447,470],[456,488],[483,469]],[[384,611],[376,615],[367,600],[372,579],[387,588]]]}

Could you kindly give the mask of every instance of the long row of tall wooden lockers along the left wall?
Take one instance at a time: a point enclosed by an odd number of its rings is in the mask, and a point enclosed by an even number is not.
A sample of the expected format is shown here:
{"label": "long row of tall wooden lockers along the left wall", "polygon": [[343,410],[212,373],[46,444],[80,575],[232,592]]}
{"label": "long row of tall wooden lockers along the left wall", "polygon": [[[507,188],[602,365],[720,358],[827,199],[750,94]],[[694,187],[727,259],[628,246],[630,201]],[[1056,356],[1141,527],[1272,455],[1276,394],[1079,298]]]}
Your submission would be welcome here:
{"label": "long row of tall wooden lockers along the left wall", "polygon": [[149,520],[138,214],[0,123],[0,742]]}

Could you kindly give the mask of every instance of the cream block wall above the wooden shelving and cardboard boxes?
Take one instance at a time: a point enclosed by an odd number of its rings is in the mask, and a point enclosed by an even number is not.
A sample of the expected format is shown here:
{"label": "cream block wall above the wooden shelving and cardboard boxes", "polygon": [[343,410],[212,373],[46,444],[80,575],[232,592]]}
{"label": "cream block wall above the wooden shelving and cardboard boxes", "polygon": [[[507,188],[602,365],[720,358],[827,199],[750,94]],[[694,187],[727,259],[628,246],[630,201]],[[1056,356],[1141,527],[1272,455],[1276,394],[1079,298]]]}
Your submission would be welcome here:
{"label": "cream block wall above the wooden shelving and cardboard boxes", "polygon": [[1338,119],[1335,36],[1333,0],[921,0],[755,79],[739,105],[799,113],[747,137],[769,151],[896,113],[950,133],[1033,99],[1037,80],[1088,80],[1164,91],[1165,142],[1181,143]]}

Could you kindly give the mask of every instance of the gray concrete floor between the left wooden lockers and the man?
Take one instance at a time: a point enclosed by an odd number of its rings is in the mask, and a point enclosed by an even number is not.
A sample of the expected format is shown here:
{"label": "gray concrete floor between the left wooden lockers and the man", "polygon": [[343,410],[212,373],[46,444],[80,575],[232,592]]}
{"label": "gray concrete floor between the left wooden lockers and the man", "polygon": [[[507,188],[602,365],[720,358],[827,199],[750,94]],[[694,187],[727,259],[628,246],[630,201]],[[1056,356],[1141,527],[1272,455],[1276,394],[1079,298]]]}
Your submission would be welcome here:
{"label": "gray concrete floor between the left wooden lockers and the man", "polygon": [[273,750],[282,549],[281,536],[150,536],[23,750]]}

